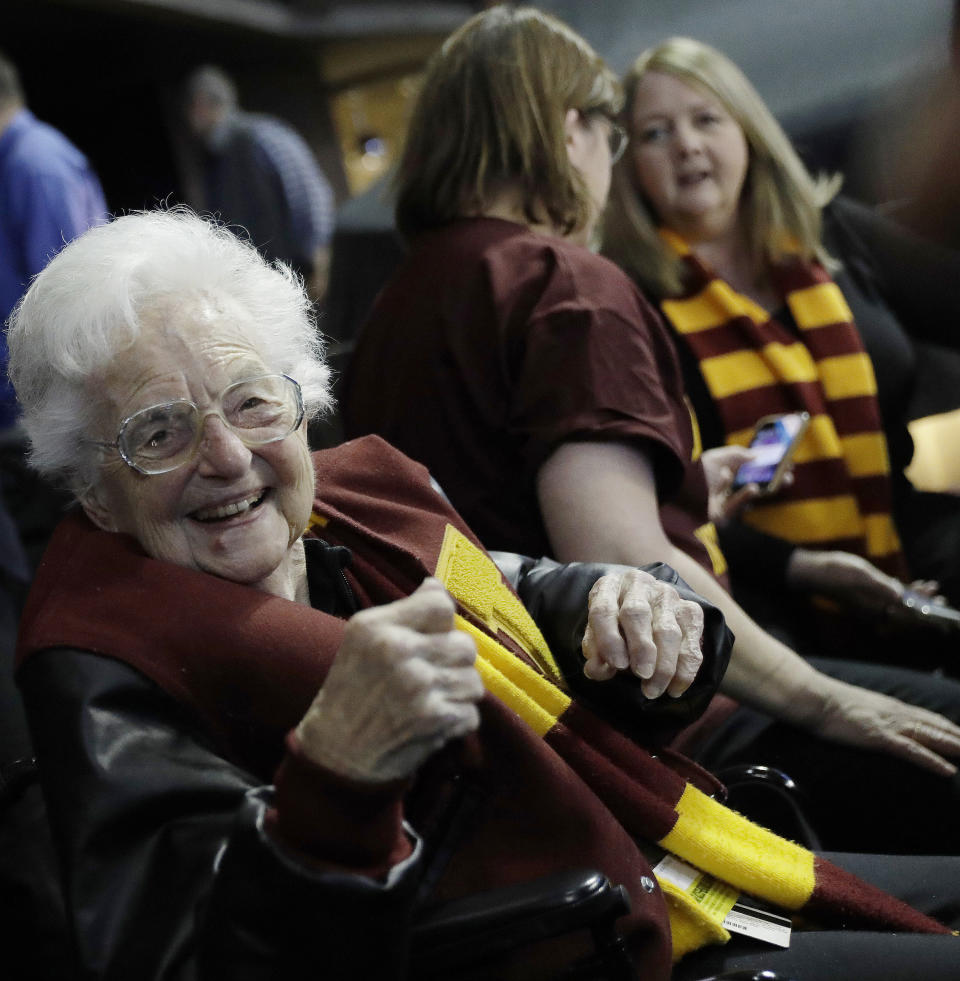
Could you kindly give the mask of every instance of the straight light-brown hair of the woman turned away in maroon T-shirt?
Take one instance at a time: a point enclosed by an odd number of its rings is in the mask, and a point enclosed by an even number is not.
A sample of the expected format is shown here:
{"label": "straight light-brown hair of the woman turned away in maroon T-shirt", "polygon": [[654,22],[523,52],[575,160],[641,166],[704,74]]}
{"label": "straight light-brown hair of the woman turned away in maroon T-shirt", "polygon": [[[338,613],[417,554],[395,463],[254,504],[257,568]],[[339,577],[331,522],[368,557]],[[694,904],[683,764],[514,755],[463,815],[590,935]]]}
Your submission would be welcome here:
{"label": "straight light-brown hair of the woman turned away in maroon T-shirt", "polygon": [[427,67],[397,172],[397,227],[410,238],[475,214],[511,183],[529,220],[569,233],[590,198],[567,157],[566,113],[612,117],[622,105],[616,76],[561,21],[508,5],[477,14]]}

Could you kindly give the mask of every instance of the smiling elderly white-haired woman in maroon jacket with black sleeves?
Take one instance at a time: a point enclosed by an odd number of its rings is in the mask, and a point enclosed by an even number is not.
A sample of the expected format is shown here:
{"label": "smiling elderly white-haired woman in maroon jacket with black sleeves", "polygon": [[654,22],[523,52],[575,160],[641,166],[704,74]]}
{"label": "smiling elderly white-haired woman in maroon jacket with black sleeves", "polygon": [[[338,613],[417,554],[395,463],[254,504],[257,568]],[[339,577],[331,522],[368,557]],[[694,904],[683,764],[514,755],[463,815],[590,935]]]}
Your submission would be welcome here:
{"label": "smiling elderly white-haired woman in maroon jacket with black sleeves", "polygon": [[[567,685],[426,472],[378,439],[311,457],[330,392],[309,311],[289,270],[176,210],[72,243],[11,319],[32,462],[80,504],[35,581],[18,680],[84,977],[291,977],[318,958],[324,977],[399,976],[424,877],[456,894],[586,864],[646,895],[619,820],[506,707],[498,658],[554,716]],[[636,700],[667,726],[710,698],[726,630],[707,606],[701,648],[682,583],[513,568],[558,656],[569,624],[574,673],[665,687]],[[509,761],[485,760],[498,740]],[[533,835],[510,814],[538,773]],[[483,828],[448,870],[413,825],[439,834],[471,774]],[[576,842],[585,819],[596,840]],[[638,936],[663,934],[662,898],[646,906]]]}

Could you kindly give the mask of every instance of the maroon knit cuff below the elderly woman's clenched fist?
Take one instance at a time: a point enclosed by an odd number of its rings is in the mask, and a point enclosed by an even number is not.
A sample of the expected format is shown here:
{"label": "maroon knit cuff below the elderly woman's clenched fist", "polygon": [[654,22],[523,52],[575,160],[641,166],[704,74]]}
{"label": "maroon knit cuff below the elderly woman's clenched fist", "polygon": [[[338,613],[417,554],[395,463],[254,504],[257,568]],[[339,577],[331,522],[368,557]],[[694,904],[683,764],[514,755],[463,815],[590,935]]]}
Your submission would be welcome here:
{"label": "maroon knit cuff below the elderly woman's clenched fist", "polygon": [[413,851],[403,830],[407,780],[339,776],[313,763],[290,732],[274,784],[267,830],[311,865],[381,878]]}

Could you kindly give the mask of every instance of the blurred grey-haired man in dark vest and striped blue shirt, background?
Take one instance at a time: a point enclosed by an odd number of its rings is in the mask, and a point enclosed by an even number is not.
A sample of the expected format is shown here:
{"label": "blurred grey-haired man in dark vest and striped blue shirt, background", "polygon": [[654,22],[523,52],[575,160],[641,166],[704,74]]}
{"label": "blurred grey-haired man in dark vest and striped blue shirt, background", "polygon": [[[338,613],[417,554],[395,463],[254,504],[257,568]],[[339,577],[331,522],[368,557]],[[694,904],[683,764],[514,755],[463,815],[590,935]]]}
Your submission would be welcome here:
{"label": "blurred grey-haired man in dark vest and striped blue shirt, background", "polygon": [[313,151],[288,123],[241,110],[233,80],[212,65],[187,80],[186,115],[204,149],[203,208],[296,269],[322,302],[335,203]]}

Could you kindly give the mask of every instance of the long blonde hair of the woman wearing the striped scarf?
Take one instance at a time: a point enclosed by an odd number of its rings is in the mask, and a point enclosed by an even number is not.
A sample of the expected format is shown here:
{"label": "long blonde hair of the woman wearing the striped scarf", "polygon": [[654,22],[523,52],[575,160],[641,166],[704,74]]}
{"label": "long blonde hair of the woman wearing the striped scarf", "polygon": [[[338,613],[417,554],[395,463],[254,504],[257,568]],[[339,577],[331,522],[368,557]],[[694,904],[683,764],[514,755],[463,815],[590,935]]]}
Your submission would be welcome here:
{"label": "long blonde hair of the woman wearing the striped scarf", "polygon": [[[653,71],[713,96],[743,130],[750,162],[741,214],[754,262],[776,260],[789,251],[835,268],[820,230],[823,206],[839,190],[840,176],[811,176],[743,72],[716,49],[692,38],[670,38],[633,63],[624,78],[628,131],[637,88]],[[655,297],[675,295],[683,288],[682,263],[657,233],[657,217],[637,188],[629,157],[626,154],[614,167],[603,252]]]}

